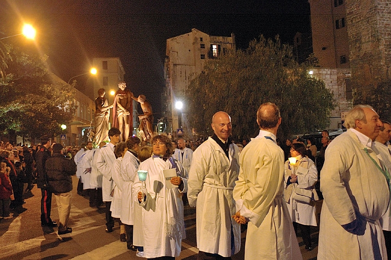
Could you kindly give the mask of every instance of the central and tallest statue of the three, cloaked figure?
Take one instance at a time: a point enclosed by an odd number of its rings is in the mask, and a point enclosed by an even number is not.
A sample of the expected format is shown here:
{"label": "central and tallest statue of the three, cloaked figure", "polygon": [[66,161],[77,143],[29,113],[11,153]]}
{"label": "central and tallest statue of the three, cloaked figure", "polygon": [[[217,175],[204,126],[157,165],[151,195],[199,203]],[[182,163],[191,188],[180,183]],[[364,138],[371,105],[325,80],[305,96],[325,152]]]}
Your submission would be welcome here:
{"label": "central and tallest statue of the three, cloaked figure", "polygon": [[113,103],[113,127],[120,129],[121,141],[129,138],[130,127],[133,129],[133,93],[126,88],[126,83],[118,83],[120,88],[114,97]]}

